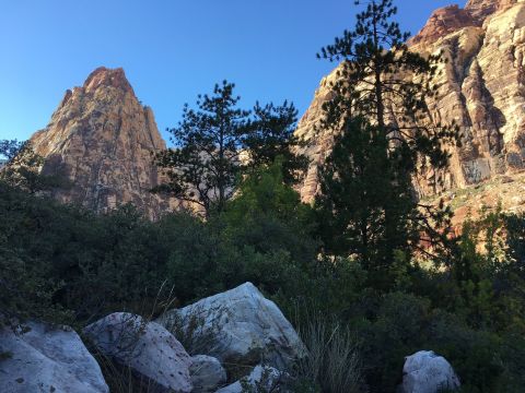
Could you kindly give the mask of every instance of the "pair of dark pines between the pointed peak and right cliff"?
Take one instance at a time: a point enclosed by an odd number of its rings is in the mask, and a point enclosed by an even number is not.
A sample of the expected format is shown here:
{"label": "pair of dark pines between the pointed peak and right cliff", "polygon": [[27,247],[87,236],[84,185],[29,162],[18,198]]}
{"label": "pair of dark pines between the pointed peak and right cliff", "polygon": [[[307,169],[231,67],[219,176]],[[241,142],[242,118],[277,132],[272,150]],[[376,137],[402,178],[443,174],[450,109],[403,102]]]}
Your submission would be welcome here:
{"label": "pair of dark pines between the pointed peak and right cliff", "polygon": [[291,183],[307,164],[292,152],[299,144],[293,136],[293,104],[257,103],[253,111],[244,110],[237,107],[241,98],[234,87],[224,81],[215,85],[213,95],[199,95],[197,109],[186,105],[182,122],[168,130],[174,148],[156,155],[168,182],[153,191],[195,203],[207,216],[224,210],[242,174],[268,167],[280,157],[283,179]]}

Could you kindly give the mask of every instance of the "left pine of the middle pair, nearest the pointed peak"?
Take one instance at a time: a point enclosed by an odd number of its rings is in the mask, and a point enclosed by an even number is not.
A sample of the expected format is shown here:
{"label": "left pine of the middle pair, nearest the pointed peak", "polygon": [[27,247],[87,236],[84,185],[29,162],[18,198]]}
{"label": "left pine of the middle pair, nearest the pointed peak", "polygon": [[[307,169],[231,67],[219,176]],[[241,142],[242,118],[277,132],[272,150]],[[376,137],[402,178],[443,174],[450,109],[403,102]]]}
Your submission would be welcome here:
{"label": "left pine of the middle pair, nearest the pointed peak", "polygon": [[207,215],[224,209],[234,193],[249,120],[249,112],[237,107],[241,97],[234,87],[223,81],[211,96],[198,96],[197,109],[184,107],[183,120],[168,130],[174,148],[156,155],[158,165],[168,169],[170,182],[154,191],[195,203]]}

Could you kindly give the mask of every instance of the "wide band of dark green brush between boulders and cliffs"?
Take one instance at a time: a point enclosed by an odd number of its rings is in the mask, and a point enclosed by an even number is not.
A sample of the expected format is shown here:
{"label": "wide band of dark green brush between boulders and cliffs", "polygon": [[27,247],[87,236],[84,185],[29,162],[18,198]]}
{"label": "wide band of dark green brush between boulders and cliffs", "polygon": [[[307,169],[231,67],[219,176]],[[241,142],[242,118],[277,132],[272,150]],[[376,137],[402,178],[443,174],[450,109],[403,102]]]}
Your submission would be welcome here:
{"label": "wide band of dark green brush between boulders and cliffs", "polygon": [[1,183],[1,309],[84,324],[252,281],[298,326],[315,312],[354,332],[371,392],[394,392],[404,357],[421,349],[444,355],[467,392],[512,392],[525,382],[525,217],[498,217],[508,236],[490,230],[490,252],[471,245],[493,216],[466,225],[450,270],[404,261],[385,291],[369,285],[365,264],[317,254],[316,215],[282,182],[278,164],[247,178],[208,222],[176,213],[151,223],[131,206],[96,216]]}

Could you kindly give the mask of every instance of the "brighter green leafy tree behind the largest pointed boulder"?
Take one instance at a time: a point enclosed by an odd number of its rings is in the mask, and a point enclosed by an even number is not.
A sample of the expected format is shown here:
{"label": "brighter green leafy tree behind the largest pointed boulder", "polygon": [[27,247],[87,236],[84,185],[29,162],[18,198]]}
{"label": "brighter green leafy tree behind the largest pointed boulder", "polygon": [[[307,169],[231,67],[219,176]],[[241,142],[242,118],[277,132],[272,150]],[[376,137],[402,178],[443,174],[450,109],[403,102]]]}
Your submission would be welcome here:
{"label": "brighter green leafy tree behind the largest pointed boulder", "polygon": [[270,293],[294,291],[293,276],[304,276],[316,261],[312,209],[285,184],[282,162],[262,166],[241,182],[237,196],[219,217],[221,237],[241,258],[235,278],[259,283]]}

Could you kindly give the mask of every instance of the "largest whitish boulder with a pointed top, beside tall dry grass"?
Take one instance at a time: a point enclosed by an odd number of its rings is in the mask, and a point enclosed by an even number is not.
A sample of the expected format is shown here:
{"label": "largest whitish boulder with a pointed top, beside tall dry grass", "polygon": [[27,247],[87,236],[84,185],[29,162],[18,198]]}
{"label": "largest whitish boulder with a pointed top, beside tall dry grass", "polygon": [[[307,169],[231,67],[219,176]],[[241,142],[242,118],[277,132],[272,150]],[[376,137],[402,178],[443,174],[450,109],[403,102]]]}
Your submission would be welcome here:
{"label": "largest whitish boulder with a pointed top, beside tall dry grass", "polygon": [[158,321],[168,330],[178,324],[190,332],[199,353],[222,362],[283,369],[305,355],[291,323],[252,283],[168,311]]}

